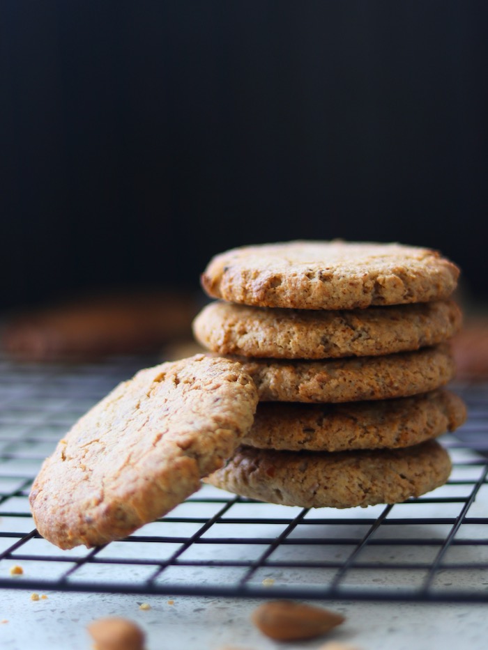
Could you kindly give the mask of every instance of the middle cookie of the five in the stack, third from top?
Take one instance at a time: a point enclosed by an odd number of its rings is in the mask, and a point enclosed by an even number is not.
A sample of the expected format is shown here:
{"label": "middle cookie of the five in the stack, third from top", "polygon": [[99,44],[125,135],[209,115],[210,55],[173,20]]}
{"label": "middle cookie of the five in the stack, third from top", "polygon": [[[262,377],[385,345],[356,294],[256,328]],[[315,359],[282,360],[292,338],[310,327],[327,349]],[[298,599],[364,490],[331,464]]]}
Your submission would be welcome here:
{"label": "middle cookie of the five in the stack, third from top", "polygon": [[448,343],[382,357],[321,361],[229,357],[243,364],[265,402],[354,402],[408,397],[455,376]]}

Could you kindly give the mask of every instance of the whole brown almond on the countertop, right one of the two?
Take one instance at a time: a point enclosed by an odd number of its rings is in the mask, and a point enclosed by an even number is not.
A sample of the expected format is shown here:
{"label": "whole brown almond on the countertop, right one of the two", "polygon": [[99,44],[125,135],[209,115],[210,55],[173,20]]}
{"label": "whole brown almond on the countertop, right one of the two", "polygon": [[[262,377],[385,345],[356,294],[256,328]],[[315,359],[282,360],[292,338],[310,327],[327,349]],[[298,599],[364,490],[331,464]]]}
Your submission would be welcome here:
{"label": "whole brown almond on the countertop, right one of the two", "polygon": [[263,603],[252,613],[252,622],[275,641],[312,639],[344,622],[341,614],[293,601]]}

